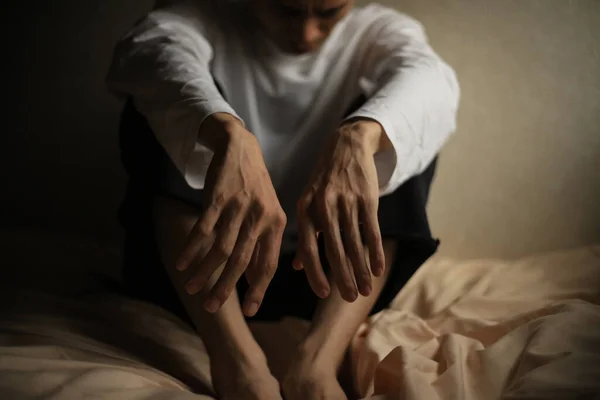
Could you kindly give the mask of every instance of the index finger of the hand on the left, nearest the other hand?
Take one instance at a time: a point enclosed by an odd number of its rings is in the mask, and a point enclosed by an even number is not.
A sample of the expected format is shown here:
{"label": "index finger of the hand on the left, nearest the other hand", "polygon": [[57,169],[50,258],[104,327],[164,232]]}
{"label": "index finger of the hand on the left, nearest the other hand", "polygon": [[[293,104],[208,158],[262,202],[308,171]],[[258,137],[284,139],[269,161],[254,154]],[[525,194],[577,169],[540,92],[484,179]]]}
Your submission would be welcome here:
{"label": "index finger of the hand on the left, nearest the other hand", "polygon": [[267,288],[277,271],[282,236],[283,229],[276,228],[268,231],[260,239],[257,266],[244,298],[243,311],[247,317],[253,317],[258,312]]}

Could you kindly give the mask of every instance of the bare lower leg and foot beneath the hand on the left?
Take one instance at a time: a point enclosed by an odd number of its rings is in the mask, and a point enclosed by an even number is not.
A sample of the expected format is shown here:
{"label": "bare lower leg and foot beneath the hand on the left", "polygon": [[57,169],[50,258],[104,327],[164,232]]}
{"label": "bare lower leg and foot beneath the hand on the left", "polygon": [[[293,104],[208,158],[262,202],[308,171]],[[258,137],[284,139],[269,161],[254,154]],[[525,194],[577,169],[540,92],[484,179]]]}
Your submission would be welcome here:
{"label": "bare lower leg and foot beneath the hand on the left", "polygon": [[[220,399],[279,399],[279,385],[267,360],[244,320],[236,293],[221,309],[208,313],[202,303],[183,290],[189,273],[175,270],[175,263],[200,213],[176,200],[157,198],[154,224],[159,252],[188,315],[197,328],[210,358],[212,385]],[[222,270],[222,268],[221,268]],[[217,271],[203,289],[209,293],[221,274]]]}

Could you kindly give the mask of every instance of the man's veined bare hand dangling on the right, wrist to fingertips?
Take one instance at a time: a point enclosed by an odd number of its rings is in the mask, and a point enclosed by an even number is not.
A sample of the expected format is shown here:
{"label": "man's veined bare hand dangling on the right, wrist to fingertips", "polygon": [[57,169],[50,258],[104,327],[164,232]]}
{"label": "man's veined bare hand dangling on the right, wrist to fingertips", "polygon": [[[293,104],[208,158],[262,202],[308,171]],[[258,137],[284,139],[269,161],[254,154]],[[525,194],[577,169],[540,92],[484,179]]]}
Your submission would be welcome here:
{"label": "man's veined bare hand dangling on the right, wrist to fingertips", "polygon": [[389,145],[386,141],[382,126],[375,121],[344,124],[326,147],[298,202],[299,245],[294,268],[306,271],[313,291],[320,297],[330,292],[319,260],[320,233],[325,239],[333,281],[344,300],[358,298],[357,285],[360,294],[368,296],[372,290],[371,272],[383,275],[374,154]]}

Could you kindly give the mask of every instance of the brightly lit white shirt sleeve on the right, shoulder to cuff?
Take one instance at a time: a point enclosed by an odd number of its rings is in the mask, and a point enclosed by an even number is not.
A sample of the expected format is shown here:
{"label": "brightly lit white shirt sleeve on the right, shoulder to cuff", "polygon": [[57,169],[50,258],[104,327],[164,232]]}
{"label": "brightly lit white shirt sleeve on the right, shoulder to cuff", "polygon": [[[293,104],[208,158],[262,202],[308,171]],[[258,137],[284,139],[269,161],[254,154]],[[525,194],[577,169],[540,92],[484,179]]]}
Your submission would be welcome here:
{"label": "brightly lit white shirt sleeve on the right, shoulder to cuff", "polygon": [[417,21],[377,7],[364,36],[361,87],[367,102],[350,118],[379,122],[393,150],[375,156],[380,194],[423,172],[456,127],[460,90]]}

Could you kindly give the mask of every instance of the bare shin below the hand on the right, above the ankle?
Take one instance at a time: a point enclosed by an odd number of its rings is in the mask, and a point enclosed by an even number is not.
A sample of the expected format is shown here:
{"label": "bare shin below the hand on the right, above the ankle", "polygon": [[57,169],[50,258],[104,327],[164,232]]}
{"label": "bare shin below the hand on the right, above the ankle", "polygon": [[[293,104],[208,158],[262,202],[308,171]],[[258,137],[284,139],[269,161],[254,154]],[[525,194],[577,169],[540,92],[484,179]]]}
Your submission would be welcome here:
{"label": "bare shin below the hand on the right, above the ankle", "polygon": [[336,285],[331,285],[330,296],[323,300],[313,319],[309,334],[301,345],[303,357],[315,363],[338,368],[359,326],[366,321],[389,276],[395,256],[394,241],[384,241],[385,273],[374,277],[373,290],[368,297],[359,297],[348,303],[342,299]]}

